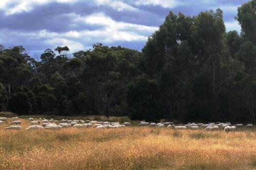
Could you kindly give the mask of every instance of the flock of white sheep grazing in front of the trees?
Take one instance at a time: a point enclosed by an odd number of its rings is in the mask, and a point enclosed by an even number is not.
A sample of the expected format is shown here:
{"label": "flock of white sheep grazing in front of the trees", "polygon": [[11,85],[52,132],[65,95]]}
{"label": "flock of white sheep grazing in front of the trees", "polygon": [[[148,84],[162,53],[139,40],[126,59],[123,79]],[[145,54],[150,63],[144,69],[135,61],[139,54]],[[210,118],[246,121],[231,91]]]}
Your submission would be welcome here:
{"label": "flock of white sheep grazing in front of the trees", "polygon": [[[19,120],[18,117],[9,118],[11,121],[8,123],[7,117],[0,117],[0,127],[4,124],[9,124],[9,127],[5,127],[6,130],[22,130],[22,122]],[[98,122],[97,120],[68,120],[68,119],[61,119],[61,120],[54,120],[45,119],[45,118],[28,118],[26,121],[29,122],[30,126],[26,127],[26,130],[41,130],[41,129],[53,129],[59,130],[63,128],[95,128],[95,129],[117,129],[117,128],[125,128],[130,127],[132,124],[130,122],[124,122],[120,124],[119,122]],[[156,128],[172,128],[175,130],[198,130],[204,129],[206,131],[212,130],[224,130],[224,131],[236,131],[237,128],[252,128],[252,124],[236,124],[232,125],[230,122],[226,123],[188,123],[182,126],[175,126],[174,122],[161,122],[161,123],[149,123],[141,121],[138,125],[135,126],[143,126],[143,127],[156,127]]]}

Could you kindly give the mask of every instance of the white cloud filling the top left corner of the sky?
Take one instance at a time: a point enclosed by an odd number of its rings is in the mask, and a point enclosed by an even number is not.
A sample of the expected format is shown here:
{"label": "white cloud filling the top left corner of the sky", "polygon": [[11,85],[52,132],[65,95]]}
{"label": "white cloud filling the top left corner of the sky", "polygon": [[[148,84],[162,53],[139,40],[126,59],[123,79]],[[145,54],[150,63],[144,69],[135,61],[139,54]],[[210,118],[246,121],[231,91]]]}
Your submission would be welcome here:
{"label": "white cloud filling the top left corner of the sky", "polygon": [[1,0],[0,10],[4,10],[6,15],[20,12],[28,12],[37,5],[48,3],[75,3],[79,0]]}

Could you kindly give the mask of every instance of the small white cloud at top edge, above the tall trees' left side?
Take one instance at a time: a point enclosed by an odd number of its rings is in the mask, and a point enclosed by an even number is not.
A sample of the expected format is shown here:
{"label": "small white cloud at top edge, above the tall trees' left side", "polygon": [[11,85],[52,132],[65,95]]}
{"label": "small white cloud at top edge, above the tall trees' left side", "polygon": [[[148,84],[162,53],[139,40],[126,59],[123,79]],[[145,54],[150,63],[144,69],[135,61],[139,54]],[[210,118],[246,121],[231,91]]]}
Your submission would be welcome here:
{"label": "small white cloud at top edge, above the tall trees' left side", "polygon": [[163,8],[175,8],[179,5],[182,5],[182,3],[177,0],[138,0],[138,1],[135,1],[135,5],[137,6],[159,5],[159,6],[162,6]]}

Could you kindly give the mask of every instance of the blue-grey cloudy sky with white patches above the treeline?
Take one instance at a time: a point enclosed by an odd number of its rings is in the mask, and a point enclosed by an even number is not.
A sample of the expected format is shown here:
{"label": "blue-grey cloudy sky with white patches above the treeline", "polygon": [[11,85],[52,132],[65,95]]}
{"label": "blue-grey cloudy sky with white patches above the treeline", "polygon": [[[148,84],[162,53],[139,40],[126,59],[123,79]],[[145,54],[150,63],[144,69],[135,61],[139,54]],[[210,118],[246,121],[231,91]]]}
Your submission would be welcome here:
{"label": "blue-grey cloudy sky with white patches above the treeline", "polygon": [[46,48],[71,52],[101,42],[141,50],[170,10],[185,15],[221,8],[226,30],[240,31],[237,8],[248,0],[0,0],[0,44],[23,45],[35,57]]}

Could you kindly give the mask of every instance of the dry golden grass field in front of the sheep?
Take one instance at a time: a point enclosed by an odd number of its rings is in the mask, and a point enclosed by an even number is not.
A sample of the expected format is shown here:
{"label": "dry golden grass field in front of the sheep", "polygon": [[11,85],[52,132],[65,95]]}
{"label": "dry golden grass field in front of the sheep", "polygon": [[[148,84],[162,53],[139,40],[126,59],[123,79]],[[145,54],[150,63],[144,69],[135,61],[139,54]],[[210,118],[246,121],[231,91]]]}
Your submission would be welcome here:
{"label": "dry golden grass field in front of the sheep", "polygon": [[255,129],[237,132],[124,129],[6,131],[0,169],[255,169]]}

